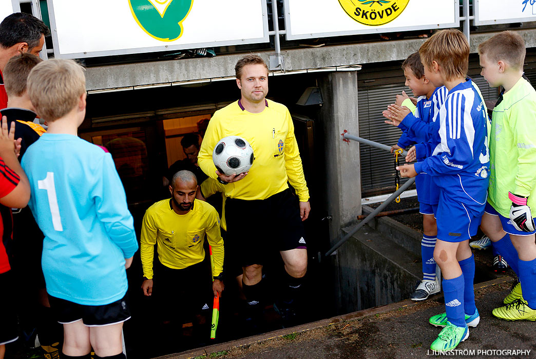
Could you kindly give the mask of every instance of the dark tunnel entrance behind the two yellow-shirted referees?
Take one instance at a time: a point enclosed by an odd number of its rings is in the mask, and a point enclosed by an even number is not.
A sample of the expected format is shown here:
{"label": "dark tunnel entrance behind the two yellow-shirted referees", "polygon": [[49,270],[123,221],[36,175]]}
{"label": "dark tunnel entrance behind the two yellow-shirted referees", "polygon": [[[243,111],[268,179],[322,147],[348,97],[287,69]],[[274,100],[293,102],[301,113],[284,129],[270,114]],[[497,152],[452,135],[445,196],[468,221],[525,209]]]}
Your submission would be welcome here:
{"label": "dark tunnel entrance behind the two yellow-shirted referees", "polygon": [[[328,275],[331,269],[326,270],[331,266],[318,261],[318,253],[325,252],[329,246],[329,220],[326,219],[329,214],[323,194],[326,174],[322,155],[325,149],[321,139],[324,136],[322,126],[318,123],[322,107],[296,104],[303,91],[307,87],[317,87],[323,77],[324,74],[322,77],[311,74],[270,77],[268,96],[269,99],[284,103],[293,115],[295,136],[310,191],[311,206],[314,208],[309,220],[305,222],[309,238],[308,273],[311,283],[322,283],[322,290],[315,290],[314,310],[308,311],[307,321],[330,317],[339,312],[331,295],[335,291],[338,293],[338,289],[333,287]],[[355,73],[353,78],[355,84]],[[113,156],[135,219],[138,238],[146,209],[160,199],[169,198],[162,177],[166,175],[170,164],[185,158],[180,144],[183,136],[199,133],[198,122],[210,120],[217,109],[236,101],[239,96],[240,90],[234,80],[88,95],[86,119],[79,129],[79,135],[87,141],[107,147]],[[321,153],[322,159],[315,156],[317,152]],[[221,209],[221,198],[211,199],[211,203],[217,209],[219,205]],[[255,237],[255,234],[245,235]],[[281,268],[279,253],[275,253],[273,263],[265,266],[267,283],[273,292],[278,290]],[[151,302],[151,297],[144,297],[140,289],[143,272],[139,252],[135,255],[128,276],[132,319],[125,324],[124,332],[129,354],[134,352],[139,357],[155,357],[190,348],[193,335],[191,321],[185,320],[184,323],[175,324],[175,327],[151,325],[154,303]],[[267,297],[265,300],[266,326],[261,330],[276,330],[281,324],[271,305],[273,298]],[[236,283],[230,277],[226,277],[226,289],[221,301],[218,340],[251,335],[235,325],[242,323],[238,317],[241,311],[240,299]],[[177,325],[182,327],[182,334]],[[153,332],[147,333],[147,327],[154,328]],[[147,335],[151,336],[155,345],[150,348],[139,346],[139,343],[146,342]],[[178,344],[169,340],[170,336],[175,335],[183,339]],[[205,343],[197,343],[198,346],[203,344]]]}

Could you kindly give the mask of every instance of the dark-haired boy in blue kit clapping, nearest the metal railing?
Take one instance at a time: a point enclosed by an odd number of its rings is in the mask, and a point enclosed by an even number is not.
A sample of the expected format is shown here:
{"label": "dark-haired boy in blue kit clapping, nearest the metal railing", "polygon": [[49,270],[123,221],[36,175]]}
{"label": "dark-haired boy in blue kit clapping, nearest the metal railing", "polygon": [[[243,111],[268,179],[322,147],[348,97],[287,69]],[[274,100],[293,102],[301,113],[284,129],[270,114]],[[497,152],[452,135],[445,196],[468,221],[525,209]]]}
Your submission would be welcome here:
{"label": "dark-haired boy in blue kit clapping, nearest the metal railing", "polygon": [[[411,100],[405,93],[397,95],[397,102],[401,102],[400,100],[406,98],[401,104],[408,109],[400,111],[400,122],[403,122],[403,124],[393,122],[393,117],[396,116],[394,111],[389,109],[383,111],[383,116],[389,119],[389,121],[385,121],[386,123],[399,126],[403,130],[398,143],[392,147],[392,151],[429,140],[429,136],[422,136],[419,132],[415,132],[411,124],[416,121],[422,122],[421,125],[431,123],[434,116],[433,109],[435,108],[432,103],[437,102],[437,97],[441,92],[446,92],[444,87],[436,88],[426,78],[418,51],[406,58],[402,64],[402,69],[406,77],[405,85],[418,98],[414,111],[410,113],[409,108],[413,107]],[[422,281],[415,288],[410,298],[413,301],[423,301],[441,290],[439,279],[436,278],[436,263],[434,260],[434,247],[437,240],[437,227],[434,216],[439,200],[439,190],[432,178],[426,174],[415,178],[415,185],[417,187],[419,212],[422,214],[424,232],[421,240]]]}

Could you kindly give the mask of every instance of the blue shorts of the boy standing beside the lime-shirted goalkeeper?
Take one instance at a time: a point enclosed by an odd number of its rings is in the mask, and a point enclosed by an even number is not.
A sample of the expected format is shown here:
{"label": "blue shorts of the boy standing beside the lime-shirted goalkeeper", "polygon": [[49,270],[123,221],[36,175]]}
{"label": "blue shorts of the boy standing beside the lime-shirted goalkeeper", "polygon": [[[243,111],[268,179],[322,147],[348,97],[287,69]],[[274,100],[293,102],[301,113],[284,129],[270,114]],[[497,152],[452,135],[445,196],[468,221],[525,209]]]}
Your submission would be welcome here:
{"label": "blue shorts of the boy standing beside the lime-shirted goalkeeper", "polygon": [[464,205],[440,195],[437,205],[437,239],[445,242],[463,242],[477,234],[484,206]]}

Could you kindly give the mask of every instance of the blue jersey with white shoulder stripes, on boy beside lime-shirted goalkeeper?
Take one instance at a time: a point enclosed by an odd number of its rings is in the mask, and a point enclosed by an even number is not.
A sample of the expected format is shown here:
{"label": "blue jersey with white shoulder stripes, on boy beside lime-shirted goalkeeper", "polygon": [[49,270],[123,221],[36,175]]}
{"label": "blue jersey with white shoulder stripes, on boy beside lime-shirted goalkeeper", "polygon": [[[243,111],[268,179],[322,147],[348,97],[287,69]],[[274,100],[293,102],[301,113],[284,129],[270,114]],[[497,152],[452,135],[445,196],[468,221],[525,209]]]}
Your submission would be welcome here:
{"label": "blue jersey with white shoulder stripes, on boy beside lime-shirted goalkeeper", "polygon": [[433,176],[450,199],[483,206],[489,181],[489,119],[478,86],[467,79],[452,88],[434,116],[438,131],[427,144],[417,145],[418,154],[430,156],[415,163],[415,171]]}

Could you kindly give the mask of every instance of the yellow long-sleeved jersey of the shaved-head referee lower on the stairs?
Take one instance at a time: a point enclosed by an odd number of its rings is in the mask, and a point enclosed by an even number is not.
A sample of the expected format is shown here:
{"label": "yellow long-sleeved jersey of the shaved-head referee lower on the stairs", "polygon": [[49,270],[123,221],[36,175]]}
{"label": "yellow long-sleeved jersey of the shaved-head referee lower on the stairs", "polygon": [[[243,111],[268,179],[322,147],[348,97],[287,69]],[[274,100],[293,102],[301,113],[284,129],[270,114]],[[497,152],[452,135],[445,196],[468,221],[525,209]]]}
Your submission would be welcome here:
{"label": "yellow long-sleeved jersey of the shaved-head referee lower on the stairs", "polygon": [[219,275],[224,265],[224,240],[220,233],[218,212],[210,204],[195,200],[187,214],[173,211],[171,199],[153,204],[145,212],[140,238],[143,275],[153,278],[154,245],[158,259],[166,267],[183,269],[203,261],[205,237],[212,246],[212,275]]}

